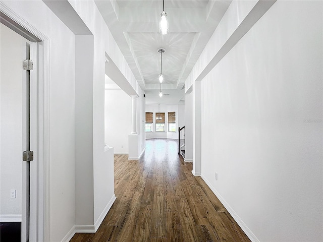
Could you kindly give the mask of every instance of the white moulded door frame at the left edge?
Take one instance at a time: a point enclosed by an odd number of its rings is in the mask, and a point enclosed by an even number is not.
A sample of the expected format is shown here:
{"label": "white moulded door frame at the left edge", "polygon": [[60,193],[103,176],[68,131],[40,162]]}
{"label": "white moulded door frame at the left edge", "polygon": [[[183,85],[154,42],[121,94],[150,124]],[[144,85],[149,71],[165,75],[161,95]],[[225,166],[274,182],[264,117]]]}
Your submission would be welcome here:
{"label": "white moulded door frame at the left edge", "polygon": [[[38,76],[37,83],[37,154],[35,186],[36,194],[30,198],[31,206],[36,208],[35,220],[30,232],[36,241],[49,241],[50,236],[50,191],[49,191],[49,38],[38,31],[18,14],[0,2],[0,22],[37,44]],[[36,70],[37,70],[36,69]]]}

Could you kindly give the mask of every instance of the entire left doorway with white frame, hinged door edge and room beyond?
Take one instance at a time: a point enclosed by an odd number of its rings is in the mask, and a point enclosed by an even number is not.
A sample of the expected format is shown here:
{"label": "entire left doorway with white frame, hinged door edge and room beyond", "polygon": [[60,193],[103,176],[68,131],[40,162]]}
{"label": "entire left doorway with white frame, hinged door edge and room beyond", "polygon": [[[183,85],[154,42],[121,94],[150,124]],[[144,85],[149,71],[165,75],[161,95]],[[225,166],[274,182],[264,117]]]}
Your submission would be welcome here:
{"label": "entire left doorway with white frame, hinged door edge and room beyond", "polygon": [[[11,231],[18,231],[17,241],[48,241],[49,41],[6,5],[0,7],[0,222],[14,225],[1,226],[1,234],[9,233],[8,241],[16,241]],[[23,70],[27,59],[33,64],[27,61]]]}

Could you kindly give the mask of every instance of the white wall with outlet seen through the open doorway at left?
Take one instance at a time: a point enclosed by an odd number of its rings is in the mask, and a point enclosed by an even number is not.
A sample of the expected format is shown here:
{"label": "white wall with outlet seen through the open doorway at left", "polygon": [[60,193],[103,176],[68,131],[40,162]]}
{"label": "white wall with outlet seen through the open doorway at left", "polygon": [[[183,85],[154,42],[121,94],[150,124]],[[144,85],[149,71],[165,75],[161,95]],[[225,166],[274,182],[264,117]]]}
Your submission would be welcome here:
{"label": "white wall with outlet seen through the open doorway at left", "polygon": [[[25,39],[0,24],[0,221],[21,221],[23,85],[22,51]],[[17,197],[10,198],[10,190]]]}

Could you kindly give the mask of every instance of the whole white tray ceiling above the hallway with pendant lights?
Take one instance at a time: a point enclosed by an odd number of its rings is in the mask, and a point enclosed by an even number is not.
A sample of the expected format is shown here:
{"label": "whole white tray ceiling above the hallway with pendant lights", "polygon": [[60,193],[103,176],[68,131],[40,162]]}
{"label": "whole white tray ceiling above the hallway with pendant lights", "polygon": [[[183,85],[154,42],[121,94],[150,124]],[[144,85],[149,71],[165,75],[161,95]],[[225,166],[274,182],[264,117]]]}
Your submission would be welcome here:
{"label": "whole white tray ceiling above the hallway with pendant lights", "polygon": [[[230,1],[165,0],[170,33],[158,32],[162,0],[95,1],[137,82],[146,93],[146,103],[177,104],[184,96],[184,83],[209,38],[228,9]],[[160,53],[163,53],[158,97]]]}

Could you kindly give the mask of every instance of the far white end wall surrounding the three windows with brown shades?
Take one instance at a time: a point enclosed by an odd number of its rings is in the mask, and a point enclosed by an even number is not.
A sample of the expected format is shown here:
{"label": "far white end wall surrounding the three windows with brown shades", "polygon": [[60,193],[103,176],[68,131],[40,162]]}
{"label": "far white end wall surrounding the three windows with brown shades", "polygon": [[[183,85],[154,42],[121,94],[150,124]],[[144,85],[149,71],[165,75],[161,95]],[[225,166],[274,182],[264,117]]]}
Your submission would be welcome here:
{"label": "far white end wall surrounding the three windows with brown shades", "polygon": [[[146,139],[167,138],[178,139],[178,127],[183,127],[184,120],[184,105],[166,105],[160,104],[160,112],[165,112],[165,132],[155,132],[156,113],[158,113],[158,104],[146,105],[146,112],[153,112],[153,132],[146,132]],[[180,110],[180,111],[179,111]],[[168,112],[175,112],[176,115],[176,132],[168,132]],[[181,114],[182,116],[179,116]]]}

